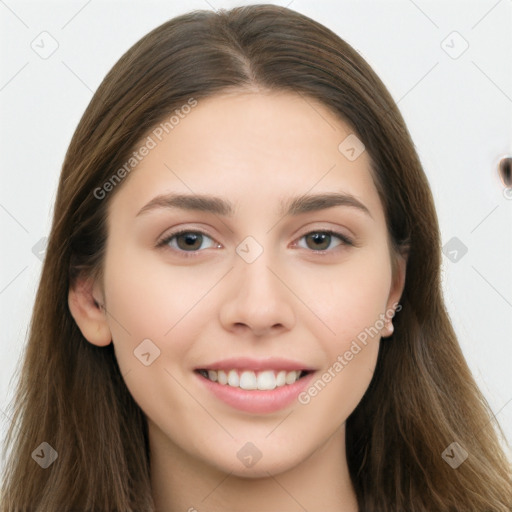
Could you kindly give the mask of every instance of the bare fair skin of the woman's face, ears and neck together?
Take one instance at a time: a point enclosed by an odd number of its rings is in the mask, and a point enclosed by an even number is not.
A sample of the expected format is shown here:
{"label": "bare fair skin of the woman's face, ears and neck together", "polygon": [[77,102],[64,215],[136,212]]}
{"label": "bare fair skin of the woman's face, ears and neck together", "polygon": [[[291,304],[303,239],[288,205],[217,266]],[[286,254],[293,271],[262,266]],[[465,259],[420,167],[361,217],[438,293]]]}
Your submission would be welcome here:
{"label": "bare fair skin of the woman's face, ears and neck together", "polygon": [[[399,302],[405,260],[393,275],[369,155],[349,161],[338,150],[350,133],[326,107],[291,93],[201,100],[112,197],[103,280],[82,280],[69,305],[86,339],[114,343],[146,414],[157,510],[357,511],[345,421],[390,322],[308,404],[271,414],[231,408],[193,372],[226,357],[283,357],[321,376]],[[370,215],[350,206],[278,213],[283,199],[333,191],[352,194]],[[171,192],[219,196],[235,213],[137,215]],[[180,228],[210,238],[188,258],[183,240],[156,247]],[[319,254],[305,235],[326,229],[356,246],[333,237]],[[235,251],[247,236],[263,248],[252,263]],[[148,338],[160,355],[145,366],[134,350]],[[262,454],[252,467],[237,457],[246,442]]]}

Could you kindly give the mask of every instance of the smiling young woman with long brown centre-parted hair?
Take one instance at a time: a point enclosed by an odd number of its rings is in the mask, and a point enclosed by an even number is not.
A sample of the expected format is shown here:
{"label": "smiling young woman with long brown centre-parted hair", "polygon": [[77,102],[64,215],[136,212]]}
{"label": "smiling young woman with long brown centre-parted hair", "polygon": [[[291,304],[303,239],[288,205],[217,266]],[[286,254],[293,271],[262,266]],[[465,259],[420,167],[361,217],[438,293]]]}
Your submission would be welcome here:
{"label": "smiling young woman with long brown centre-parted hair", "polygon": [[275,6],[170,20],[67,152],[1,510],[510,510],[440,264],[356,51]]}

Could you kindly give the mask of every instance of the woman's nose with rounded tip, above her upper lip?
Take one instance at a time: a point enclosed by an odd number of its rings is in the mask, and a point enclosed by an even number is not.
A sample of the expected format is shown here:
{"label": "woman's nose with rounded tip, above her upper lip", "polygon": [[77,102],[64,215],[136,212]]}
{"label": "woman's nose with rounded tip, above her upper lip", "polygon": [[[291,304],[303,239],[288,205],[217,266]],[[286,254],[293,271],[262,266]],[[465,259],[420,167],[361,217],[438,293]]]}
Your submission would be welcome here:
{"label": "woman's nose with rounded tip, above her upper lip", "polygon": [[286,278],[269,266],[264,255],[252,263],[239,259],[229,273],[220,322],[230,332],[263,337],[290,330],[295,324],[292,294],[283,284]]}

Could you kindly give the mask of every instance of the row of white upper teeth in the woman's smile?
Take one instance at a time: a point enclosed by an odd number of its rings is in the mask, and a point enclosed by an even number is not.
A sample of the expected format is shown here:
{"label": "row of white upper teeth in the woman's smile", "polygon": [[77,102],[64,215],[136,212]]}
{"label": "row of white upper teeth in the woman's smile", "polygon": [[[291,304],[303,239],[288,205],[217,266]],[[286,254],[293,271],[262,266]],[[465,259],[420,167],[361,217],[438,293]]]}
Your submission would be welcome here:
{"label": "row of white upper teeth in the woman's smile", "polygon": [[207,372],[203,371],[202,374],[205,377],[208,375],[208,379],[213,382],[234,388],[241,388],[248,391],[254,389],[271,391],[276,387],[279,388],[297,382],[301,371],[294,370],[287,372],[281,370],[275,372],[274,370],[265,370],[258,372],[256,375],[255,372],[248,370],[241,373],[238,370],[230,370],[229,372],[225,372],[224,370],[208,370]]}

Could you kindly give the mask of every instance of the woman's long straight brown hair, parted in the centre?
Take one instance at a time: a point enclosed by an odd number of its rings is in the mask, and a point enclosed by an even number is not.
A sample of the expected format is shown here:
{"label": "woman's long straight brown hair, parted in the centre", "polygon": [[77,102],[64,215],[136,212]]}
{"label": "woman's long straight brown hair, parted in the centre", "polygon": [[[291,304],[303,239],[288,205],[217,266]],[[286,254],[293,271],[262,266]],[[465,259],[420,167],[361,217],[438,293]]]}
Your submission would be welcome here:
{"label": "woman's long straight brown hair, parted in the centre", "polygon": [[[80,274],[101,275],[107,209],[122,183],[101,200],[94,191],[136,143],[191,98],[248,89],[319,100],[353,128],[370,155],[394,248],[408,250],[395,332],[346,425],[360,511],[509,512],[505,436],[445,309],[434,202],[404,120],[357,51],[319,23],[270,5],[164,23],[125,53],[87,107],[60,177],[5,442],[0,510],[154,509],[145,417],[112,344],[82,336],[68,290]],[[58,453],[47,469],[31,456],[42,442]],[[452,443],[468,454],[456,469],[442,456]]]}

